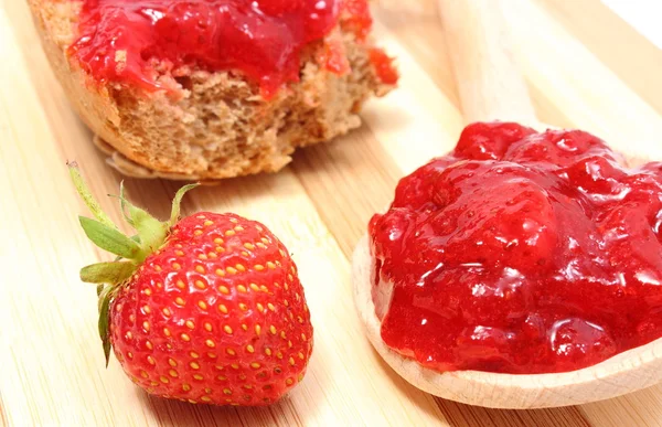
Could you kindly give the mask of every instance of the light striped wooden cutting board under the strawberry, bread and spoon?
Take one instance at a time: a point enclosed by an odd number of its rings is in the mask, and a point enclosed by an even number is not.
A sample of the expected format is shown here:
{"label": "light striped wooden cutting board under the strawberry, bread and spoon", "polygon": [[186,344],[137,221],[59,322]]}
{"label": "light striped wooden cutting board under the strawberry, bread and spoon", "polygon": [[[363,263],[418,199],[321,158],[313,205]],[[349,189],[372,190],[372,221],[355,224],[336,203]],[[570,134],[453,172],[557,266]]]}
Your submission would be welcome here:
{"label": "light striped wooden cutting board under the strawberry, bread and spoon", "polygon": [[[509,0],[517,60],[541,120],[592,131],[630,154],[662,159],[662,52],[599,0]],[[434,1],[382,0],[376,36],[398,56],[401,88],[372,102],[364,126],[302,150],[281,173],[224,181],[186,196],[184,212],[233,211],[268,224],[295,254],[316,328],[302,384],[259,409],[194,406],[137,389],[104,367],[97,261],[68,182],[76,159],[97,196],[121,177],[51,73],[24,0],[0,0],[0,425],[65,426],[644,426],[662,425],[662,386],[545,410],[493,410],[409,386],[372,350],[354,313],[350,255],[403,174],[452,148],[462,127]],[[128,180],[164,216],[179,184]],[[118,220],[115,201],[104,207]]]}

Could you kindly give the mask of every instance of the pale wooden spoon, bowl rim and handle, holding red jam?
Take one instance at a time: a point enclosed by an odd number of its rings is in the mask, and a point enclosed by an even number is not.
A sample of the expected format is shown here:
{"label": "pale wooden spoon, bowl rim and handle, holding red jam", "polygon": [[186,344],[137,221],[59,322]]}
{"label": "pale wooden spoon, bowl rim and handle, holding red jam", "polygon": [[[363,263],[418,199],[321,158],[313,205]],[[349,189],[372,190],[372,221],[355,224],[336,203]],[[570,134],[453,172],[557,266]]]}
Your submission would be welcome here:
{"label": "pale wooden spoon, bowl rim and handle, holding red jam", "polygon": [[[526,85],[508,51],[500,0],[440,0],[439,8],[467,120],[500,119],[541,128]],[[611,398],[662,380],[662,339],[597,365],[558,374],[439,373],[423,367],[383,342],[371,293],[372,266],[366,236],[354,253],[353,284],[367,337],[399,375],[436,396],[494,408],[542,408]]]}

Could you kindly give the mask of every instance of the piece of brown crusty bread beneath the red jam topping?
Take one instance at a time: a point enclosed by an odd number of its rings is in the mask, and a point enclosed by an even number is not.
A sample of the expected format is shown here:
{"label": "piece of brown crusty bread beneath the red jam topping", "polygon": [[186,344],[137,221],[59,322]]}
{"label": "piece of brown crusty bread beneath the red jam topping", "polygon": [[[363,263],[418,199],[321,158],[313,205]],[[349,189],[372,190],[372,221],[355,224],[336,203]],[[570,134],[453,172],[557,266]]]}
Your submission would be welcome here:
{"label": "piece of brown crusty bread beneath the red jam topping", "polygon": [[[232,72],[191,70],[177,77],[164,73],[177,96],[99,84],[66,53],[76,39],[81,1],[29,3],[71,103],[96,134],[108,163],[128,175],[214,180],[275,172],[291,161],[296,148],[359,127],[362,104],[393,88],[377,77],[371,44],[356,41],[341,25],[327,40],[307,46],[300,82],[268,100],[257,85]],[[318,64],[325,42],[344,45],[351,73],[340,76]]]}

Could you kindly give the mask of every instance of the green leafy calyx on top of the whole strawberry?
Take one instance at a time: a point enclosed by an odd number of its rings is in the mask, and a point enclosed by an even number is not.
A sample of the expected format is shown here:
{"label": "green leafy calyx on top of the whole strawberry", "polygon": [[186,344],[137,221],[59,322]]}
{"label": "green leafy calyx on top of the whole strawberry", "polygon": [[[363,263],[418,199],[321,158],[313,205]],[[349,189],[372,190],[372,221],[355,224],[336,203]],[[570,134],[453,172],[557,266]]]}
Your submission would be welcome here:
{"label": "green leafy calyx on top of the whole strawberry", "polygon": [[113,261],[93,264],[81,269],[81,280],[97,285],[99,321],[98,329],[106,356],[106,366],[110,356],[109,307],[124,285],[134,276],[145,259],[159,249],[168,238],[170,229],[180,217],[180,205],[184,194],[196,188],[197,183],[182,186],[172,201],[172,211],[168,221],[159,221],[147,211],[134,205],[125,198],[124,182],[119,186],[119,204],[125,221],[136,229],[134,236],[127,236],[102,210],[89,188],[83,180],[76,162],[67,163],[76,191],[92,212],[94,218],[79,216],[85,235],[99,248],[117,257]]}

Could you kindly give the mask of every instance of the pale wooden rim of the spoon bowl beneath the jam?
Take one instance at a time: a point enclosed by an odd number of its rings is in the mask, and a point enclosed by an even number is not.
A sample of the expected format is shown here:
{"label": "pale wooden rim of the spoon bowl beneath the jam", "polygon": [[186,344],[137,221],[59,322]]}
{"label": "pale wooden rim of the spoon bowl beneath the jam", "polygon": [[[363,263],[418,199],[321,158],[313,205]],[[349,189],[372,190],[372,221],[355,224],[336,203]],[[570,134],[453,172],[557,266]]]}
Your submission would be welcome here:
{"label": "pale wooden rim of the spoon bowl beneath the jam", "polygon": [[649,387],[662,380],[662,339],[583,370],[514,375],[479,371],[437,372],[405,357],[382,340],[382,322],[372,297],[373,257],[369,236],[353,256],[354,302],[371,343],[391,367],[414,386],[469,405],[532,409],[581,405]]}

